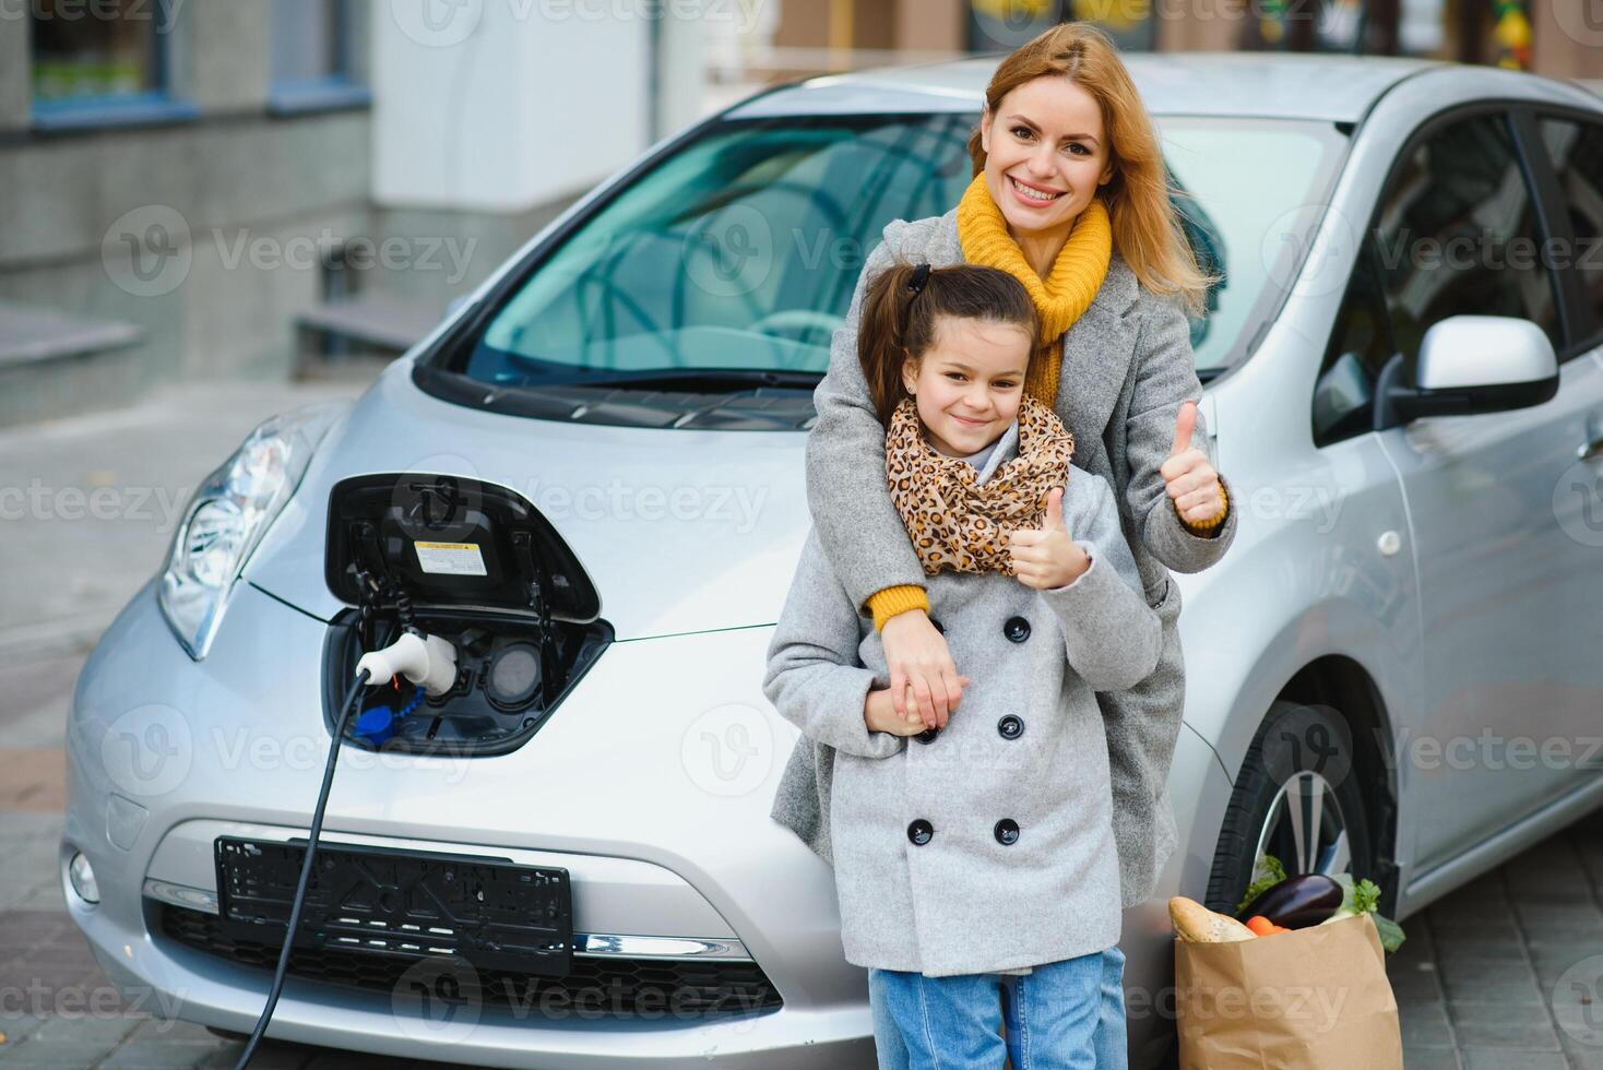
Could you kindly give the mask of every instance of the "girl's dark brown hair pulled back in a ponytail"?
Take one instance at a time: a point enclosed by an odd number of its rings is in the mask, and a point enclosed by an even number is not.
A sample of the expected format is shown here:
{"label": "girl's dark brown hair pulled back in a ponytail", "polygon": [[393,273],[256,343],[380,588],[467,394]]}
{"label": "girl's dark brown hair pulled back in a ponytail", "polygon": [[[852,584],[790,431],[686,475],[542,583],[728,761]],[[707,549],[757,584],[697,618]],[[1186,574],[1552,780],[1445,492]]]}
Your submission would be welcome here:
{"label": "girl's dark brown hair pulled back in a ponytail", "polygon": [[[917,287],[920,280],[923,285]],[[885,426],[907,396],[902,362],[922,357],[935,343],[938,316],[1013,324],[1034,340],[1040,314],[1024,284],[997,268],[930,268],[896,261],[882,271],[862,298],[858,362],[869,383],[874,412]]]}

